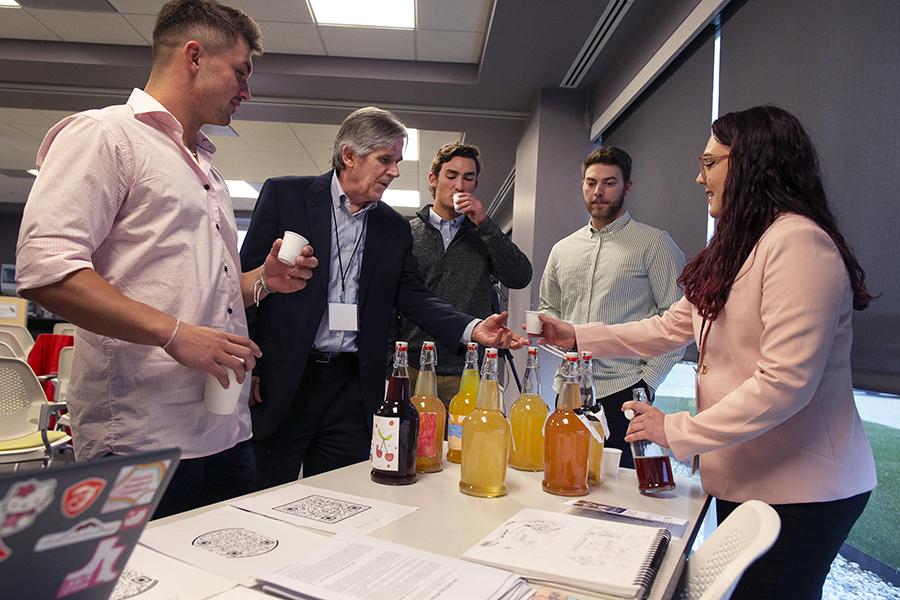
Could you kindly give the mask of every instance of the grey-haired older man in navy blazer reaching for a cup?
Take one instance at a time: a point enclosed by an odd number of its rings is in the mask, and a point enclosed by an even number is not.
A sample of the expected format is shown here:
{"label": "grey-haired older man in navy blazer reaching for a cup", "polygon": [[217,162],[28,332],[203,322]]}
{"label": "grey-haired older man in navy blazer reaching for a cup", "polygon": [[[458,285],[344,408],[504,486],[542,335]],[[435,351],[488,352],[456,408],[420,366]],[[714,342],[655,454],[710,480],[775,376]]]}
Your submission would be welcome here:
{"label": "grey-haired older man in navy blazer reaching for a cup", "polygon": [[296,480],[301,465],[310,476],[368,458],[394,309],[439,344],[524,344],[505,313],[475,319],[423,283],[409,222],[379,202],[400,175],[405,142],[392,113],[360,109],[338,131],[333,171],[269,179],[260,192],[241,250],[245,270],[285,231],[305,236],[319,259],[305,290],[250,309],[263,352],[251,399],[260,487]]}

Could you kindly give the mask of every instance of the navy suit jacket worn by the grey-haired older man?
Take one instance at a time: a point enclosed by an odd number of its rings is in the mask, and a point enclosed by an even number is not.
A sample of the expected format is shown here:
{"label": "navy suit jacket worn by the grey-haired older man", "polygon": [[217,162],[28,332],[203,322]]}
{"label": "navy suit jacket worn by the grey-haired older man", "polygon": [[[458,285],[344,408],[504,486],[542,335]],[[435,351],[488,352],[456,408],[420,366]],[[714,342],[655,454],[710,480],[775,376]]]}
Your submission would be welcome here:
{"label": "navy suit jacket worn by the grey-haired older man", "polygon": [[[276,177],[263,185],[241,248],[249,271],[263,264],[272,243],[294,231],[306,237],[319,266],[306,288],[270,294],[248,309],[250,334],[263,352],[255,374],[263,402],[251,410],[253,436],[265,440],[281,426],[300,386],[316,331],[328,306],[331,263],[331,177]],[[435,296],[412,253],[409,221],[383,202],[369,212],[359,281],[356,342],[363,405],[369,420],[384,399],[388,326],[394,309],[440,344],[455,347],[474,318]]]}

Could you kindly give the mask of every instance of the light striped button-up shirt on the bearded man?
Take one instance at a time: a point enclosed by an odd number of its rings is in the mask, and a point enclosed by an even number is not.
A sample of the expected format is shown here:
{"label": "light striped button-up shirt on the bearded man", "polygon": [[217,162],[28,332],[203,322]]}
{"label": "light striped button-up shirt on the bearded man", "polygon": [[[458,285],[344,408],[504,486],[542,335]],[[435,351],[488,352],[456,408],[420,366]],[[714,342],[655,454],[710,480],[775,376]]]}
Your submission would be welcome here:
{"label": "light striped button-up shirt on the bearded man", "polygon": [[[662,314],[681,297],[675,280],[683,267],[684,254],[667,233],[625,211],[602,229],[588,223],[553,246],[541,278],[539,310],[576,324],[611,325]],[[594,360],[597,393],[608,396],[641,379],[656,389],[682,354]]]}

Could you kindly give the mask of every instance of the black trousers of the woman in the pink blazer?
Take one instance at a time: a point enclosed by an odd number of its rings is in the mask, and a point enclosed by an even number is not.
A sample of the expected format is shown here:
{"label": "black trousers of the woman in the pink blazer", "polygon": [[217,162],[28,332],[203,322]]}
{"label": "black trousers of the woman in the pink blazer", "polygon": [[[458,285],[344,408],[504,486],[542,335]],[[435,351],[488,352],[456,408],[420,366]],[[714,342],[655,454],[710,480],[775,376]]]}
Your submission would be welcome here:
{"label": "black trousers of the woman in the pink blazer", "polygon": [[[832,502],[773,504],[781,532],[750,565],[732,600],[818,600],[831,563],[869,501],[870,492]],[[719,524],[739,505],[716,499]]]}

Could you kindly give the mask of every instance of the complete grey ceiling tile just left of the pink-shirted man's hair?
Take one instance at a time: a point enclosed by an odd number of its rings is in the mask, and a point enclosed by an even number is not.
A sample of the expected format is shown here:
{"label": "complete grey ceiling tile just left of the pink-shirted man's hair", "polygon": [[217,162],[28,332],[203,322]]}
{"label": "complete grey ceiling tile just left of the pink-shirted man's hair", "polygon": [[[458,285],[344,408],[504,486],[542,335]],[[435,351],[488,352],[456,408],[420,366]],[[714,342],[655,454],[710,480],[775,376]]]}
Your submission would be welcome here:
{"label": "complete grey ceiling tile just left of the pink-shirted man's hair", "polygon": [[41,23],[67,42],[146,45],[147,41],[118,13],[72,10],[29,10]]}

